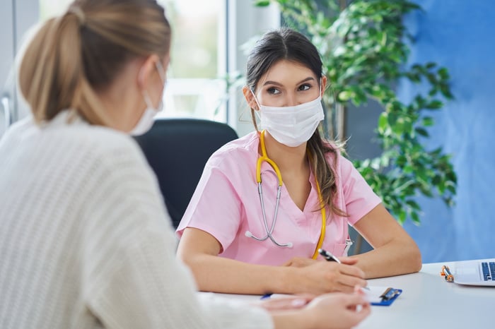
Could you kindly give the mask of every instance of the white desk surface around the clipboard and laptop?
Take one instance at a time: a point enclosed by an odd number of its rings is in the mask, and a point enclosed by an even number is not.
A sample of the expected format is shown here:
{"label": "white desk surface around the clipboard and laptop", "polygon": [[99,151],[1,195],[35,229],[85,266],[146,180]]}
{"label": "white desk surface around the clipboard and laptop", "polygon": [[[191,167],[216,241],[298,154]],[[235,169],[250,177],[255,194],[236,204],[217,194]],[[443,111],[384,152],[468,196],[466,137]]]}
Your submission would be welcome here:
{"label": "white desk surface around the clipboard and laptop", "polygon": [[[424,264],[419,273],[368,280],[369,285],[400,288],[403,292],[391,306],[371,306],[371,316],[356,328],[494,328],[495,287],[446,282],[440,275],[442,265],[453,267],[455,262]],[[229,298],[253,300],[253,296]]]}

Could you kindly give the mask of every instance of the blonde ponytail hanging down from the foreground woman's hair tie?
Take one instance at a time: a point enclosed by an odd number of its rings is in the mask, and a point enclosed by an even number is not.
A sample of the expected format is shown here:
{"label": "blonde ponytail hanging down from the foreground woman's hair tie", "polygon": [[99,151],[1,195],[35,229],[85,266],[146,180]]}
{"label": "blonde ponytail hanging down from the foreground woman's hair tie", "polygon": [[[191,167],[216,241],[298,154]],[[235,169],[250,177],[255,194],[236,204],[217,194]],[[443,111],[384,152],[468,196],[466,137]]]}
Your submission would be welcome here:
{"label": "blonde ponytail hanging down from the foreground woman's hair tie", "polygon": [[105,112],[84,78],[80,19],[72,12],[42,25],[25,49],[19,86],[37,123],[63,109],[78,109],[92,124],[105,124]]}

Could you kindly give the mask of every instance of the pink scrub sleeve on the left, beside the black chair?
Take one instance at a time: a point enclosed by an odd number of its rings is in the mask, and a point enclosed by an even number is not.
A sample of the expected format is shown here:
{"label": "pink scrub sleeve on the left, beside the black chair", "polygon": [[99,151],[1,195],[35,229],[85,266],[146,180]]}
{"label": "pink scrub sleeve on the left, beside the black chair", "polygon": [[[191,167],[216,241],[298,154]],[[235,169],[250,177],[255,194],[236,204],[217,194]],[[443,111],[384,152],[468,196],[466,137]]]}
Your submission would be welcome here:
{"label": "pink scrub sleeve on the left, beside the black chair", "polygon": [[223,251],[235,239],[242,213],[243,203],[226,174],[218,167],[206,164],[177,227],[177,235],[181,237],[186,227],[201,229],[214,236]]}

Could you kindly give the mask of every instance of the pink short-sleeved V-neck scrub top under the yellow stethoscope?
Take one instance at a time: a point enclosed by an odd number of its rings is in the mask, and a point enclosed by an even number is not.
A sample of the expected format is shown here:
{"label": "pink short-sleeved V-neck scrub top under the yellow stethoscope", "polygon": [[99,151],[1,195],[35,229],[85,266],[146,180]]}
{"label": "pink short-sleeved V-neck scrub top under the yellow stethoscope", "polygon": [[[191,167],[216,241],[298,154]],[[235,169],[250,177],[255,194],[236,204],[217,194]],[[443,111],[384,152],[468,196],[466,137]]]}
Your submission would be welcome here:
{"label": "pink short-sleeved V-neck scrub top under the yellow stethoscope", "polygon": [[[227,143],[211,155],[177,227],[177,235],[182,236],[186,227],[202,229],[221,244],[219,256],[246,263],[281,265],[296,256],[311,258],[320,237],[322,222],[313,172],[309,177],[311,191],[303,211],[293,203],[282,185],[279,213],[272,235],[281,244],[291,242],[291,248],[276,246],[270,239],[257,241],[245,236],[246,231],[255,237],[267,235],[256,181],[259,144],[260,138],[255,131]],[[332,167],[333,157],[332,154],[327,156]],[[267,162],[262,162],[261,168],[264,208],[268,227],[271,227],[278,179]],[[335,205],[349,217],[330,216],[327,208],[322,248],[336,256],[344,256],[348,225],[354,225],[381,200],[351,162],[341,155],[337,159],[336,173]]]}

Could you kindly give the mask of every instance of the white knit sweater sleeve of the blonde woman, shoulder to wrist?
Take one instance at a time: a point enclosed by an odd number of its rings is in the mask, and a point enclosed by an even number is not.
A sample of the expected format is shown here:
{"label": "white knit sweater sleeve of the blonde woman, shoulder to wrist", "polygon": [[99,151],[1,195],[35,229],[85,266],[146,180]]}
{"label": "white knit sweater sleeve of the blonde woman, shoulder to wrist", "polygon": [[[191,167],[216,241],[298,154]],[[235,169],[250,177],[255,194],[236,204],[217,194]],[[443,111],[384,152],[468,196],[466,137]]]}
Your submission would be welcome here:
{"label": "white knit sweater sleeve of the blonde woman, shoulder to wrist", "polygon": [[199,299],[139,150],[110,152],[91,182],[82,285],[105,328],[272,328],[264,309]]}

